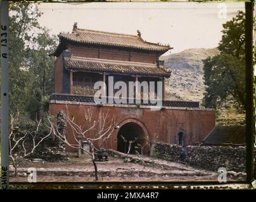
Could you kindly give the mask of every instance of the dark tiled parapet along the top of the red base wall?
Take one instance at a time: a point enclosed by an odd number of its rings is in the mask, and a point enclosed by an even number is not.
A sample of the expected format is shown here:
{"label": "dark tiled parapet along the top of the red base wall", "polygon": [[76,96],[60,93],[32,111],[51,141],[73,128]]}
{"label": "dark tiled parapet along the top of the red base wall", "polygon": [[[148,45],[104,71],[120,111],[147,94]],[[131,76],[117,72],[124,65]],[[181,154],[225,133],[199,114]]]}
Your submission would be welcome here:
{"label": "dark tiled parapet along the top of the red base wall", "polygon": [[[54,101],[69,101],[69,102],[91,102],[95,103],[93,96],[86,96],[86,95],[68,95],[68,94],[57,94],[53,93],[51,94],[50,100]],[[115,99],[112,100],[115,102]],[[106,101],[108,103],[108,99]],[[127,104],[129,104],[129,101],[127,100]],[[151,104],[150,102],[148,104],[144,104],[143,100],[141,100],[141,105],[157,105],[157,104]],[[199,102],[183,102],[183,101],[170,101],[165,100],[162,103],[163,107],[188,107],[188,108],[198,108]]]}

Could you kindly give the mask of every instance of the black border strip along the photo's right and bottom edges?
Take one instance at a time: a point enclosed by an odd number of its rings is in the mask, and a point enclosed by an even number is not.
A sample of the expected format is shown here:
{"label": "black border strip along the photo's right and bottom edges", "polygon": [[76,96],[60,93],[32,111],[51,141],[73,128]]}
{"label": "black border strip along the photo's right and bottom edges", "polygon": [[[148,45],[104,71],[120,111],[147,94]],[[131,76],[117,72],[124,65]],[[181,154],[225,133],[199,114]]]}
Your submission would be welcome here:
{"label": "black border strip along the photo's right and bottom edges", "polygon": [[[36,3],[37,1],[30,1]],[[42,3],[61,3],[56,1],[40,1]],[[97,1],[67,1],[67,2],[97,2]],[[183,1],[189,3],[190,1]],[[194,2],[194,1],[192,1]],[[195,1],[196,2],[196,1]],[[200,1],[202,2],[202,1]],[[202,2],[203,3],[203,2]],[[217,1],[216,1],[217,3]],[[222,2],[223,3],[223,2]],[[165,186],[165,189],[170,189],[174,186],[231,186],[233,184],[248,184],[251,185],[256,178],[255,172],[255,106],[253,96],[253,0],[245,2],[245,58],[246,58],[246,181],[229,181],[226,183],[219,183],[214,181],[182,181],[182,182],[10,182],[10,187],[26,187],[33,189],[41,189],[44,186],[48,188],[74,188],[84,187],[93,189],[106,189],[109,186],[110,189],[127,189],[125,186],[131,186],[136,188],[138,186],[145,186],[153,188],[153,186]],[[138,189],[138,188],[136,188]]]}

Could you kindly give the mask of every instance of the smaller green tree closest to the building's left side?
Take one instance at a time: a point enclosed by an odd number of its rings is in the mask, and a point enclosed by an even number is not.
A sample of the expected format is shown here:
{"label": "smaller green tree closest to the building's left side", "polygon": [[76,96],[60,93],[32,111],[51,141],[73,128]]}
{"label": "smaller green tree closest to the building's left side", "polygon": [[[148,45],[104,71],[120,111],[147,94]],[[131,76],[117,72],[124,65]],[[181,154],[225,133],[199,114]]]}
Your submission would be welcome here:
{"label": "smaller green tree closest to the building's left side", "polygon": [[47,28],[42,28],[33,41],[33,48],[30,50],[30,71],[34,75],[31,96],[27,104],[27,111],[32,118],[42,116],[47,110],[46,102],[54,90],[54,58],[49,54],[56,48],[56,37],[49,35]]}

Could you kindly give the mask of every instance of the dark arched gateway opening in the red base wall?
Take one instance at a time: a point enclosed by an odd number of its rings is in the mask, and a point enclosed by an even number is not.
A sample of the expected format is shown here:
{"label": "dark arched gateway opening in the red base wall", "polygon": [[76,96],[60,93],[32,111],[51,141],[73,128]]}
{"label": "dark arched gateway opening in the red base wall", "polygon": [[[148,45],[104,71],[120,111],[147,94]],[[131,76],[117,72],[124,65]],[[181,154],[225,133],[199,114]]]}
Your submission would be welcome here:
{"label": "dark arched gateway opening in the red base wall", "polygon": [[[126,119],[120,124],[120,129],[117,132],[117,151],[134,154],[141,154],[141,146],[146,143],[148,131],[144,124],[138,119]],[[145,154],[143,148],[143,154]]]}

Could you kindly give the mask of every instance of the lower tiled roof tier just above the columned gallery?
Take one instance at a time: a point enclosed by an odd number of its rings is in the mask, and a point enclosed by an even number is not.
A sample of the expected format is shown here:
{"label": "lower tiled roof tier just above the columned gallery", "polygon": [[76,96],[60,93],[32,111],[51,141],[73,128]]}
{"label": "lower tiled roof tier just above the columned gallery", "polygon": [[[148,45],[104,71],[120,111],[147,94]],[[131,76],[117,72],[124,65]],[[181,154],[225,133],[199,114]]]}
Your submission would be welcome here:
{"label": "lower tiled roof tier just above the columned gallery", "polygon": [[112,61],[86,57],[64,57],[65,68],[83,71],[105,71],[107,73],[138,74],[146,76],[170,76],[170,72],[157,64]]}

